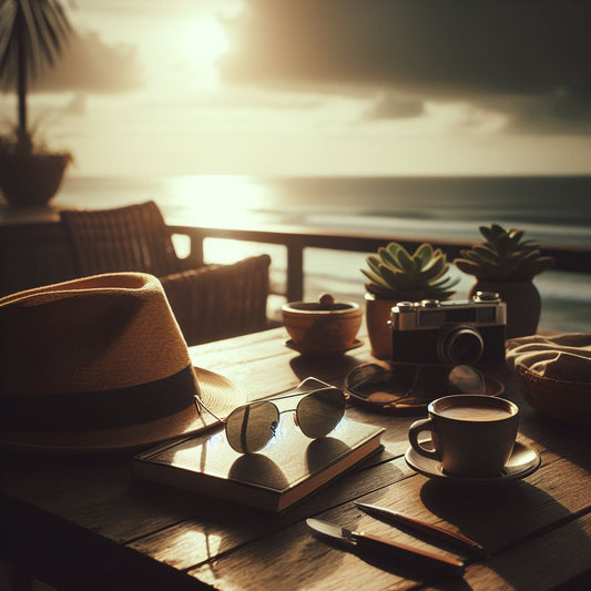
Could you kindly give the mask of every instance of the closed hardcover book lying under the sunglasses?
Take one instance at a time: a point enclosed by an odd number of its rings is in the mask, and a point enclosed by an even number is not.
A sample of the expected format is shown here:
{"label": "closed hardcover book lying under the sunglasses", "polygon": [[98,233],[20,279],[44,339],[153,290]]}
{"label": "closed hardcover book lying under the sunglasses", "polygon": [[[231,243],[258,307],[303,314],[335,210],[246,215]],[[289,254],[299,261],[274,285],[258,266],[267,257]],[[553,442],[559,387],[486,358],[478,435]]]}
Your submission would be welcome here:
{"label": "closed hardcover book lying under the sunglasses", "polygon": [[343,418],[320,439],[293,420],[256,454],[234,451],[224,430],[163,444],[133,458],[134,477],[279,512],[381,448],[384,429]]}

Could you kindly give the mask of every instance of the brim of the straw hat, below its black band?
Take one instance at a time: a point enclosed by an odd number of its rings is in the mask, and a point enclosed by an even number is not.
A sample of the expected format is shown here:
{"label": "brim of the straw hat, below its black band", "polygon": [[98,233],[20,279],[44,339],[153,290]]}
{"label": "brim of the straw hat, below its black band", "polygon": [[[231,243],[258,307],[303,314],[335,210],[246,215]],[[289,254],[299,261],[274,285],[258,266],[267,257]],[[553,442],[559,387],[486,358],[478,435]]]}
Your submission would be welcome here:
{"label": "brim of the straw hat, below its black band", "polygon": [[[201,399],[216,417],[224,419],[246,401],[245,396],[224,376],[200,367],[193,367],[193,370],[200,385]],[[210,429],[220,422],[216,417],[205,409],[200,414],[196,406],[192,405],[174,415],[125,427],[85,431],[3,432],[1,447],[49,454],[137,450]]]}

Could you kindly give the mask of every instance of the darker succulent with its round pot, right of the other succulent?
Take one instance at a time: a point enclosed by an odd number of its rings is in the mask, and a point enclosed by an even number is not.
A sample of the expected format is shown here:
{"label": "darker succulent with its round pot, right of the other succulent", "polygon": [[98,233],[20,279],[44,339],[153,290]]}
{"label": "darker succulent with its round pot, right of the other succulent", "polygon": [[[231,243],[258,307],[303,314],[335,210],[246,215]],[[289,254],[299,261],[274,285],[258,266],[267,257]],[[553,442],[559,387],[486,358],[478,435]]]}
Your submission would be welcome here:
{"label": "darker succulent with its round pot, right of the other succulent", "polygon": [[454,264],[476,276],[470,295],[497,292],[506,302],[508,338],[534,334],[541,299],[533,277],[550,268],[553,257],[543,256],[536,242],[524,241],[522,230],[505,230],[499,224],[479,230],[485,241],[460,251]]}

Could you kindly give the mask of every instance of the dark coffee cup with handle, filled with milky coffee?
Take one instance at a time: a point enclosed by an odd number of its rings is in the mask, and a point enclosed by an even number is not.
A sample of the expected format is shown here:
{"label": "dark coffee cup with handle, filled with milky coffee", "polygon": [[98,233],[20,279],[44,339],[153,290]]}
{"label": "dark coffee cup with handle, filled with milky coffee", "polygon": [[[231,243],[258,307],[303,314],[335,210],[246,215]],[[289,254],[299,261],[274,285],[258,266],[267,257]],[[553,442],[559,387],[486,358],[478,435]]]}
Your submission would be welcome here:
{"label": "dark coffee cup with handle, filled with milky coffee", "polygon": [[[497,476],[511,456],[517,437],[519,407],[486,395],[444,396],[429,404],[429,417],[408,431],[412,449],[441,462],[446,472],[461,477]],[[431,432],[434,449],[419,442]]]}

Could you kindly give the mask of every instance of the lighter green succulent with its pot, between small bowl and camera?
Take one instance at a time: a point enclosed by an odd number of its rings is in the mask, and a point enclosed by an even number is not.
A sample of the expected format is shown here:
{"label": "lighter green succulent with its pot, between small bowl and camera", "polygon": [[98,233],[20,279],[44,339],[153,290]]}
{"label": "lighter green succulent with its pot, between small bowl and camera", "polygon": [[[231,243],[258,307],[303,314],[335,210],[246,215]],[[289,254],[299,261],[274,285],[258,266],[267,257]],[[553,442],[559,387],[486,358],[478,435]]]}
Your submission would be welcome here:
{"label": "lighter green succulent with its pot, between small bowl and camera", "polygon": [[361,273],[369,279],[366,323],[371,353],[381,359],[390,357],[390,309],[398,302],[448,299],[459,277],[449,276],[447,256],[440,248],[421,244],[410,254],[404,246],[390,242],[366,258],[369,268]]}

